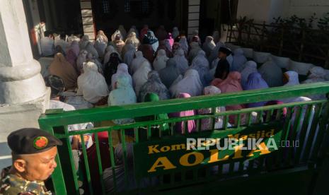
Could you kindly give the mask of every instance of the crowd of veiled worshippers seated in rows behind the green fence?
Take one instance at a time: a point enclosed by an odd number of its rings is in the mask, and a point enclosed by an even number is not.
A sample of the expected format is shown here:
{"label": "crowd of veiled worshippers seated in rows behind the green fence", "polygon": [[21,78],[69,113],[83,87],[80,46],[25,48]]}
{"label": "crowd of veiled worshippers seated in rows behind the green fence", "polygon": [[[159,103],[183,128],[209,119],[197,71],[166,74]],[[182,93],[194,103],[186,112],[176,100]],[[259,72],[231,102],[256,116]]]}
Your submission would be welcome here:
{"label": "crowd of veiled worshippers seated in rows behind the green fence", "polygon": [[[52,32],[45,32],[45,37],[40,40],[42,54],[54,57],[48,69],[50,78],[45,78],[45,80],[52,90],[61,91],[62,97],[62,102],[60,102],[57,93],[51,101],[50,108],[79,110],[104,105],[129,105],[137,102],[300,84],[299,75],[294,71],[282,72],[282,69],[273,61],[267,61],[258,67],[255,61],[248,61],[243,54],[243,49],[231,51],[219,41],[218,32],[214,32],[213,37],[208,36],[201,45],[197,30],[193,32],[192,37],[188,38],[185,32],[179,31],[177,27],[168,31],[160,26],[154,33],[148,25],[144,25],[140,32],[135,26],[126,31],[120,25],[110,39],[105,32],[99,30],[95,40],[90,40],[88,35],[56,36]],[[316,66],[310,70],[308,79],[303,83],[328,80],[329,76],[325,70]],[[323,98],[325,98],[323,95],[312,95],[307,98],[230,105],[218,107],[216,112]],[[139,119],[117,119],[110,122],[110,125],[211,112],[212,110],[209,109],[187,110]],[[230,117],[229,123],[235,124],[235,120],[235,117]],[[246,121],[246,116],[242,116],[241,121]],[[215,122],[216,129],[222,128],[223,119],[219,117],[215,119]],[[92,125],[71,126],[71,130],[88,129],[92,128]],[[210,126],[209,119],[202,119],[202,131],[211,129]],[[191,133],[195,131],[196,124],[194,120],[190,120],[187,122],[187,129],[182,123],[176,123],[174,127],[178,134]],[[152,128],[160,129],[163,134],[168,131],[166,124]],[[92,178],[97,178],[99,173],[96,149],[93,146],[94,136],[86,135],[85,137],[88,144],[88,160],[93,164],[89,167],[96,170],[91,172]],[[103,158],[109,151],[108,134],[99,134],[98,137],[105,170],[110,167],[109,159]],[[79,150],[79,145],[81,145],[79,136],[71,139],[72,148]],[[119,138],[113,146],[117,146],[118,140]],[[79,164],[79,160],[76,161],[76,164]],[[76,167],[79,166],[76,165]],[[93,185],[98,187],[99,182],[93,179]]]}

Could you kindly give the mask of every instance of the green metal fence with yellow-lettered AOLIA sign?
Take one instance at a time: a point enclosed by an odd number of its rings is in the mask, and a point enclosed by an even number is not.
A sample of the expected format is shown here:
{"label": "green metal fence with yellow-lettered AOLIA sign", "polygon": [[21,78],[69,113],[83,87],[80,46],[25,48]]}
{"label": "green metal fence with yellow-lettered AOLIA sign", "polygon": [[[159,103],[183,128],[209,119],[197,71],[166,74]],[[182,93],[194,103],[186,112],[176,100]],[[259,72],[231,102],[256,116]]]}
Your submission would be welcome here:
{"label": "green metal fence with yellow-lettered AOLIA sign", "polygon": [[[39,119],[40,128],[54,134],[64,143],[58,147],[57,168],[52,175],[54,190],[56,194],[79,194],[79,188],[83,188],[86,194],[181,193],[182,190],[197,190],[200,184],[213,183],[216,189],[230,179],[253,181],[253,178],[282,170],[289,170],[284,172],[289,175],[294,171],[319,169],[329,140],[328,100],[219,113],[216,113],[216,107],[328,93],[329,83],[312,83],[72,112],[48,110]],[[137,119],[202,108],[212,108],[212,113],[121,125],[105,124],[115,119]],[[255,113],[257,117],[253,117]],[[235,122],[229,126],[232,116]],[[223,120],[223,126],[215,129],[214,121],[218,118]],[[209,131],[200,130],[202,119],[211,119],[212,128]],[[197,132],[187,132],[189,120],[195,120]],[[86,122],[93,122],[96,127],[68,131],[68,125]],[[174,130],[177,122],[183,122],[183,134]],[[163,124],[168,124],[169,131],[154,128]],[[104,141],[99,139],[100,132],[108,132],[106,143],[109,156],[101,154],[100,144]],[[83,134],[93,134],[96,159],[88,158],[89,149],[84,144]],[[74,167],[69,139],[69,136],[74,135],[81,136],[82,141],[79,171]],[[278,148],[240,150],[236,146],[233,150],[217,150],[215,146],[209,146],[208,150],[186,150],[187,138],[212,138],[212,141],[236,138],[242,144],[248,141],[247,138],[263,138],[261,146],[272,138]],[[207,143],[203,146],[207,146]],[[117,156],[118,148],[121,149],[120,156]],[[107,167],[102,165],[105,158],[110,160]],[[96,160],[97,166],[91,167],[90,160]],[[97,172],[99,178],[93,177],[91,172]],[[110,172],[112,179],[103,180],[104,172]],[[313,175],[312,172],[309,176]],[[95,186],[95,181],[98,186]]]}

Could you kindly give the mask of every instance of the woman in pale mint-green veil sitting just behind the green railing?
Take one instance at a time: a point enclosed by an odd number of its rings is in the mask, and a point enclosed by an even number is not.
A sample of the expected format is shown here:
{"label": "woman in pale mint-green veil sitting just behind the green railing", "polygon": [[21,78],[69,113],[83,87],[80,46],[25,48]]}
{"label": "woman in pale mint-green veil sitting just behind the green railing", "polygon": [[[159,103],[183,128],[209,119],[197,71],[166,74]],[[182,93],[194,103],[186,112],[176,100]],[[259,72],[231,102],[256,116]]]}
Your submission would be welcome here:
{"label": "woman in pale mint-green veil sitting just behind the green railing", "polygon": [[[108,96],[108,105],[130,105],[137,102],[136,93],[129,83],[127,76],[118,76],[115,82],[115,89]],[[134,122],[134,119],[115,119],[115,124],[127,124]]]}

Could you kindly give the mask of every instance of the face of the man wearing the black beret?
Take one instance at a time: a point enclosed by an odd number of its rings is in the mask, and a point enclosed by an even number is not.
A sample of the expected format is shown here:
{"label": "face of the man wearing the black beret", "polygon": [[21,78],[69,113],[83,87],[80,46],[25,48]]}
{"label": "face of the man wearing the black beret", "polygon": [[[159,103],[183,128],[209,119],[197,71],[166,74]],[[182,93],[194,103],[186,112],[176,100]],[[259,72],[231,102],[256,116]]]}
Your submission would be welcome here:
{"label": "face of the man wearing the black beret", "polygon": [[26,155],[25,160],[25,170],[23,172],[23,177],[29,181],[45,181],[52,172],[54,168],[57,167],[55,162],[55,156],[57,155],[57,147],[53,147],[43,153],[37,153],[33,155]]}

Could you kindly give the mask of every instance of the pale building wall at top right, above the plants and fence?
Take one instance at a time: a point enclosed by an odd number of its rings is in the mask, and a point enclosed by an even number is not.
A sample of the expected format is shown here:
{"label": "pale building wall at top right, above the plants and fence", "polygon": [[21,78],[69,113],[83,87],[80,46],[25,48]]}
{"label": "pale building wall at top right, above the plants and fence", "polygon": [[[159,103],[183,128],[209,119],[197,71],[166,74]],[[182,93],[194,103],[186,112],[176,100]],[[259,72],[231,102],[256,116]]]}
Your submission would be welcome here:
{"label": "pale building wall at top right, above the plants and fence", "polygon": [[257,23],[271,23],[272,18],[279,16],[308,18],[316,13],[319,18],[328,12],[328,0],[239,0],[237,16],[253,18]]}

